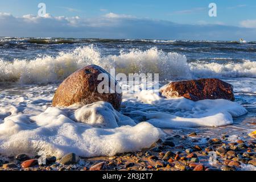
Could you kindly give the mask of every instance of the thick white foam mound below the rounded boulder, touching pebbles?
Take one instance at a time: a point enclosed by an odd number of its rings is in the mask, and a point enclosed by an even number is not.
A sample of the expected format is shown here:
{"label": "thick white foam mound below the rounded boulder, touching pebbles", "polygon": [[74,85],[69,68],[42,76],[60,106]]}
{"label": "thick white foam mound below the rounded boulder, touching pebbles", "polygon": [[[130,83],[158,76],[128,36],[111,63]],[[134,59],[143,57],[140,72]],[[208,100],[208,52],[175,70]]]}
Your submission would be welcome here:
{"label": "thick white foam mound below the rounded boulder, touching pebbles", "polygon": [[[20,109],[19,112],[5,117],[0,124],[1,154],[16,155],[22,152],[35,155],[43,151],[57,158],[68,152],[85,157],[112,156],[150,147],[163,135],[162,131],[147,122],[129,126],[135,123],[114,111],[108,103],[97,102],[84,107],[87,109],[81,107],[73,112],[48,107],[37,115],[23,114],[22,108],[16,107]],[[4,112],[2,107],[0,110]],[[99,113],[96,114],[95,110]],[[71,119],[74,112],[75,118],[84,123]],[[95,122],[86,122],[88,119],[85,119],[85,115],[95,117]]]}

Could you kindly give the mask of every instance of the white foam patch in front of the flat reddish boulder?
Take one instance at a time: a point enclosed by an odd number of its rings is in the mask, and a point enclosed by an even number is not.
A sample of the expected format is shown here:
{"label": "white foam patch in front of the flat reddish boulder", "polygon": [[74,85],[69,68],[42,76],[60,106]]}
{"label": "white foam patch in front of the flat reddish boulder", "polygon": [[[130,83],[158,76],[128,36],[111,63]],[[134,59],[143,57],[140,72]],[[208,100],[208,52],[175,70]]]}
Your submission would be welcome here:
{"label": "white foam patch in front of the flat reddish boulder", "polygon": [[247,113],[244,107],[228,100],[165,99],[152,90],[143,90],[131,97],[128,95],[122,107],[126,108],[126,114],[136,115],[135,122],[147,121],[156,127],[167,128],[230,125],[232,117]]}

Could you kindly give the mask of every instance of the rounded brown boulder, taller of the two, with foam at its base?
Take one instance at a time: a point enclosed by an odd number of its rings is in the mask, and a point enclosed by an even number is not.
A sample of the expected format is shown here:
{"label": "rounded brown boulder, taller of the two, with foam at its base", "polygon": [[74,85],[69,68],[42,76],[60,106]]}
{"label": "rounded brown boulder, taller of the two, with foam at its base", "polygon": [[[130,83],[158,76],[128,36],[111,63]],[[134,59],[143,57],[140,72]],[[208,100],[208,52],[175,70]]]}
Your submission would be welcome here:
{"label": "rounded brown boulder, taller of the two, with foam at its base", "polygon": [[[97,78],[100,73],[105,73],[108,76],[110,87],[110,74],[97,65],[88,65],[72,73],[60,84],[53,97],[52,105],[61,107],[106,101],[112,104],[114,109],[119,110],[122,101],[122,92],[99,93],[97,86],[102,80],[97,80]],[[115,80],[114,83],[115,86],[118,85]]]}

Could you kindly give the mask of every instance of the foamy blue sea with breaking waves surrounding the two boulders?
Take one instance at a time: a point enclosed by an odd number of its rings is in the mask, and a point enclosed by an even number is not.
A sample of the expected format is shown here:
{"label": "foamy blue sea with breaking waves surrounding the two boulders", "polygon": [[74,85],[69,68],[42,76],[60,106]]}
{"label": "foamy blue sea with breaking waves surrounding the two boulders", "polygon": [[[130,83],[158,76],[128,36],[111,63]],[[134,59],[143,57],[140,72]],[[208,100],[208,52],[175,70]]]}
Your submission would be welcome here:
{"label": "foamy blue sea with breaking waves surrounding the two boulders", "polygon": [[[220,78],[233,85],[236,100],[162,98],[152,87],[124,90],[119,112],[103,101],[52,107],[58,85],[90,64],[125,75],[159,73],[159,88]],[[224,134],[230,141],[246,139],[256,130],[256,42],[2,37],[0,100],[5,155],[111,156],[192,131],[202,134],[201,142]]]}

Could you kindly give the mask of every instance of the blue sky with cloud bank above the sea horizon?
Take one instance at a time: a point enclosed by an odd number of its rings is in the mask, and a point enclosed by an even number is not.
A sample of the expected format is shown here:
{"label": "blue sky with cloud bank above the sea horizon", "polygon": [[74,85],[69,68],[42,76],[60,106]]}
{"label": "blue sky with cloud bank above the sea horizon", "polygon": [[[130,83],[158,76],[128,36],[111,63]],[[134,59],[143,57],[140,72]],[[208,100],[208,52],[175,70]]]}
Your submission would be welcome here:
{"label": "blue sky with cloud bank above the sea horizon", "polygon": [[253,0],[0,0],[0,36],[256,40],[255,9]]}

